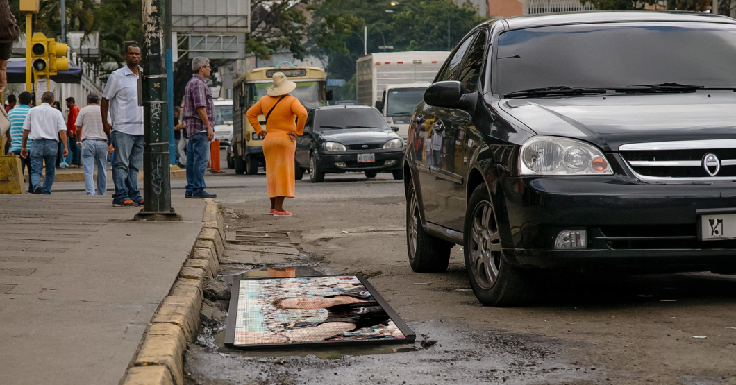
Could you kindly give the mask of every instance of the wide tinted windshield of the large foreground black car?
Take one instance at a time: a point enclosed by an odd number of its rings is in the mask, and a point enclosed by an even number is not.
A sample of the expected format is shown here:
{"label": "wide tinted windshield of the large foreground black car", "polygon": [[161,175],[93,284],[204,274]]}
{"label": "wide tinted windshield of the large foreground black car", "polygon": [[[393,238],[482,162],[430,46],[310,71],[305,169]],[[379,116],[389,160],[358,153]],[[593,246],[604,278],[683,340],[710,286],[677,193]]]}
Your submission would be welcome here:
{"label": "wide tinted windshield of the large foreground black car", "polygon": [[736,26],[581,24],[517,29],[498,38],[496,93],[545,87],[736,85]]}

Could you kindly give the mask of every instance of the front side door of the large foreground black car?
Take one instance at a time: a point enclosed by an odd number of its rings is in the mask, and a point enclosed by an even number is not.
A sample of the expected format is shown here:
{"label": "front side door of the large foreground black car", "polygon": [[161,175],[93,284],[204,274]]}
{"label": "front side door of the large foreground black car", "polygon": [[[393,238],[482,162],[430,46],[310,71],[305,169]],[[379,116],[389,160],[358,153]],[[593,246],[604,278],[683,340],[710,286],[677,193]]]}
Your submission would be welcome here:
{"label": "front side door of the large foreground black car", "polygon": [[[476,32],[461,43],[450,59],[447,67],[449,71],[443,80],[459,79],[464,59],[475,49],[474,42],[478,35]],[[433,130],[430,173],[434,176],[435,223],[448,229],[463,231],[464,178],[467,174],[467,163],[463,162],[464,138],[465,128],[471,116],[461,109],[446,107],[432,107],[432,109],[436,129]]]}

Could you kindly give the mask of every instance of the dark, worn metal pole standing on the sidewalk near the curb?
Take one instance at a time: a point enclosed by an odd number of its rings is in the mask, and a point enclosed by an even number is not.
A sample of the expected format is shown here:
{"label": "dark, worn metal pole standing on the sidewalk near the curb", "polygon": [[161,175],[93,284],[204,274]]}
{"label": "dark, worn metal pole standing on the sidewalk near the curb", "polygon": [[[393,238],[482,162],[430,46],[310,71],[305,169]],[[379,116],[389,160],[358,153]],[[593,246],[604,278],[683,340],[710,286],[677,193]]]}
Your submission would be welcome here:
{"label": "dark, worn metal pole standing on the sidewalk near the curb", "polygon": [[144,205],[137,220],[181,220],[171,208],[166,49],[171,49],[171,0],[143,0]]}

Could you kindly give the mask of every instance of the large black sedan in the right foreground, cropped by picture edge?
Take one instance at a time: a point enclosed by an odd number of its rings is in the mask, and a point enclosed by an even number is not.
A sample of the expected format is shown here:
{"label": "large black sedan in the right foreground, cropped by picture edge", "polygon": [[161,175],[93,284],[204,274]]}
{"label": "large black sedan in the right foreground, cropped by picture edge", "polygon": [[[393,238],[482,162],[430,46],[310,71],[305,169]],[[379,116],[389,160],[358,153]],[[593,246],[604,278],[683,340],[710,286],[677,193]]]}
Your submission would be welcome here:
{"label": "large black sedan in the right foreground, cropped by picture edge", "polygon": [[542,269],[736,273],[734,63],[718,15],[477,26],[412,115],[411,267],[444,271],[463,245],[494,306],[533,298]]}

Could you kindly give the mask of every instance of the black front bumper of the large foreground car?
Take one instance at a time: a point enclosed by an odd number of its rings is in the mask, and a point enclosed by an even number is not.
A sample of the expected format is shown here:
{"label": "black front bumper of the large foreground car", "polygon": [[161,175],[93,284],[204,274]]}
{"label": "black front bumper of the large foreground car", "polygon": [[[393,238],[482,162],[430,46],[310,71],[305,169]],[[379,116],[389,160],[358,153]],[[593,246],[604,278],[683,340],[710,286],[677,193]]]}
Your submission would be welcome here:
{"label": "black front bumper of the large foreground car", "polygon": [[[736,240],[697,237],[698,210],[736,207],[732,184],[502,178],[504,251],[510,262],[528,267],[736,263]],[[586,230],[587,248],[555,249],[557,235],[567,229]]]}

